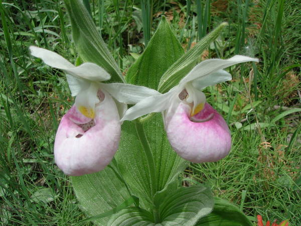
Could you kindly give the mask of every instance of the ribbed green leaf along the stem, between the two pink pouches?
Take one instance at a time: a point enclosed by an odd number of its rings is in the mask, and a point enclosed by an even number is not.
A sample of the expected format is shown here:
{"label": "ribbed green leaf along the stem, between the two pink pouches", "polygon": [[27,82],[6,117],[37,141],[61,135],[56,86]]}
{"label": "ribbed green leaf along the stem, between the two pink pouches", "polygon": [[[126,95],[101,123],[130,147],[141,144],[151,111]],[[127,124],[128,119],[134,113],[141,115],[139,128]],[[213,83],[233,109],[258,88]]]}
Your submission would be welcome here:
{"label": "ribbed green leaf along the stem, between the two pink pouches", "polygon": [[[147,161],[144,149],[150,149],[153,163]],[[152,211],[155,193],[163,190],[188,165],[171,148],[161,114],[156,114],[144,126],[138,121],[125,121],[115,158],[132,194],[140,198],[141,207],[148,211]]]}

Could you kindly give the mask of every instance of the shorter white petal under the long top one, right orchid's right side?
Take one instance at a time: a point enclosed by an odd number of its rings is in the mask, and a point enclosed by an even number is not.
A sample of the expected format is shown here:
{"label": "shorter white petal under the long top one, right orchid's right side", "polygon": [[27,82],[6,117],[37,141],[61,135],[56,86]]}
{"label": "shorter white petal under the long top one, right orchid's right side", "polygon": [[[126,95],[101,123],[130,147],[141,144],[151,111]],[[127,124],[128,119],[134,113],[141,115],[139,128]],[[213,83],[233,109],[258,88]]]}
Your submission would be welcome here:
{"label": "shorter white petal under the long top one, right orchid's right side", "polygon": [[221,82],[230,81],[232,80],[232,76],[230,73],[224,70],[218,70],[209,74],[208,76],[196,78],[192,81],[193,87],[198,90],[202,90],[210,85],[215,85]]}

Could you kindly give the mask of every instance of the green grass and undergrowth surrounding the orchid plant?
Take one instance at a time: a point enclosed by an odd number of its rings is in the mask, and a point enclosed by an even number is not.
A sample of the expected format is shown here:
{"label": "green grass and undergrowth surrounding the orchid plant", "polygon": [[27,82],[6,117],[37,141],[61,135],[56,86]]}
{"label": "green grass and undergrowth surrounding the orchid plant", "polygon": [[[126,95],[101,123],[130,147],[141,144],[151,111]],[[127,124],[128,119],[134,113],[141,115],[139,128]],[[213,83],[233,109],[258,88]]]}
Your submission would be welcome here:
{"label": "green grass and undergrowth surrounding the orchid plant", "polygon": [[[233,147],[217,163],[191,165],[180,180],[185,186],[209,185],[253,220],[261,214],[301,225],[301,3],[84,2],[124,74],[162,15],[186,51],[221,22],[229,23],[200,60],[241,54],[260,62],[231,67],[232,81],[205,90],[229,124]],[[76,223],[85,215],[53,157],[59,120],[74,99],[64,73],[28,50],[37,45],[75,62],[66,9],[57,0],[3,1],[0,7],[0,222]]]}

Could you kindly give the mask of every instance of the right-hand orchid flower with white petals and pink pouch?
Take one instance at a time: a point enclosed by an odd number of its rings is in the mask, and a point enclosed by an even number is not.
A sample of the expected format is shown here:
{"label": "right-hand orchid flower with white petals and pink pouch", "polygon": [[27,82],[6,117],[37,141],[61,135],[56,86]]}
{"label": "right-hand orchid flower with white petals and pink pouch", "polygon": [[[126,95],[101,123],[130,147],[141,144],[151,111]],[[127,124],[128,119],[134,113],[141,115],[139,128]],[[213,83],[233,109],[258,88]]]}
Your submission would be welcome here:
{"label": "right-hand orchid flower with white petals and pink pouch", "polygon": [[222,116],[206,103],[202,90],[231,80],[223,69],[247,61],[258,59],[237,55],[228,60],[205,60],[169,92],[146,97],[127,109],[121,121],[163,112],[169,142],[182,158],[196,163],[218,161],[229,153],[231,135]]}

